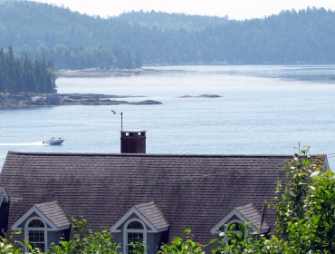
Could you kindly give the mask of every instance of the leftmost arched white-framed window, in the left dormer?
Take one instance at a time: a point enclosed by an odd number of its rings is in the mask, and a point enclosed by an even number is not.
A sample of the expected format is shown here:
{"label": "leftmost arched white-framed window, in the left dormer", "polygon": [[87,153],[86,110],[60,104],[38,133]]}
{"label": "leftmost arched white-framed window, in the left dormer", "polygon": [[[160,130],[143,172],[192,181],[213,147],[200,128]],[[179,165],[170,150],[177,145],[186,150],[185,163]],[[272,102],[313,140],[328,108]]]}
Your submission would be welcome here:
{"label": "leftmost arched white-framed window, in the left dormer", "polygon": [[33,248],[45,251],[46,225],[40,218],[32,218],[25,224],[25,238]]}

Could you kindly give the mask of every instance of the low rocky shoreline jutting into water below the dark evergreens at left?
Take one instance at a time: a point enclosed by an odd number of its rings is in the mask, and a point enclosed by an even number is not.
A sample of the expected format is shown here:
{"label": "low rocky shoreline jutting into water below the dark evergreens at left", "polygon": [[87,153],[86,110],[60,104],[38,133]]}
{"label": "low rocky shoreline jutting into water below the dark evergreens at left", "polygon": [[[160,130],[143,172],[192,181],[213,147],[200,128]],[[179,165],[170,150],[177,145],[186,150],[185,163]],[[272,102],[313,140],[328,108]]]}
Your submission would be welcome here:
{"label": "low rocky shoreline jutting into water below the dark evergreens at left", "polygon": [[158,105],[158,101],[139,102],[119,101],[116,99],[138,98],[143,96],[119,96],[93,93],[51,93],[40,95],[0,95],[0,109],[27,108],[62,105]]}

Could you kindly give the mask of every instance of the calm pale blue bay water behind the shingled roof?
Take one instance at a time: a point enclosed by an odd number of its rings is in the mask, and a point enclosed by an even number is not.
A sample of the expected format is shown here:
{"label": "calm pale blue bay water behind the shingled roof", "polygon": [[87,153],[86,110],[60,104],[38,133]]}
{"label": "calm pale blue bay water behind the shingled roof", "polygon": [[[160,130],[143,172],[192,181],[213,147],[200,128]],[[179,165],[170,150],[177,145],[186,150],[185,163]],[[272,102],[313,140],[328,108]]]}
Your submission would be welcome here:
{"label": "calm pale blue bay water behind the shingled roof", "polygon": [[[335,66],[168,66],[184,72],[59,78],[59,93],[143,95],[162,105],[0,110],[7,151],[120,152],[124,129],[147,131],[148,153],[292,154],[301,142],[335,168]],[[215,99],[181,95],[218,94]],[[60,146],[43,145],[52,136]]]}

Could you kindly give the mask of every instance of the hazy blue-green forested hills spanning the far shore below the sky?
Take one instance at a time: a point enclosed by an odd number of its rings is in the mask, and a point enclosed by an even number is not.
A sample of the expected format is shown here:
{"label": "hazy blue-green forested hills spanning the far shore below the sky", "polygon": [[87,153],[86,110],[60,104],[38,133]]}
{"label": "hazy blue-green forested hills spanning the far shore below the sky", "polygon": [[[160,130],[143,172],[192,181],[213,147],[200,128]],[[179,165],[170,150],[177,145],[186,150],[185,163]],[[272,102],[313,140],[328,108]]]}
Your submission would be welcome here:
{"label": "hazy blue-green forested hills spanning the far shore below the sky", "polygon": [[335,13],[283,11],[245,21],[132,12],[102,19],[34,2],[0,8],[0,47],[60,68],[141,64],[335,64]]}

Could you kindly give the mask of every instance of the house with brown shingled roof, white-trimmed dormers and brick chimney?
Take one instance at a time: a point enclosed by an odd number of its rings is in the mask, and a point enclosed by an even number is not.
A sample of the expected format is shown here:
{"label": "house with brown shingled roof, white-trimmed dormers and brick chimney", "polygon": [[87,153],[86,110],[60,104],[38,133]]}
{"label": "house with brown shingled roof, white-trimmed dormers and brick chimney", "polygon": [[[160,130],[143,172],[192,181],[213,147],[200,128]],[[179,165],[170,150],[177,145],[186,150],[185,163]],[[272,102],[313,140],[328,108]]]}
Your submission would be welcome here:
{"label": "house with brown shingled roof, white-trimmed dormers and brick chimney", "polygon": [[[121,133],[122,142],[121,151],[145,151],[145,132]],[[124,253],[135,239],[155,253],[185,228],[202,243],[243,221],[268,233],[275,212],[263,204],[273,200],[291,159],[9,151],[0,174],[0,227],[22,230],[21,239],[47,249],[62,235],[71,238],[72,218],[82,216],[92,230],[110,228]]]}

